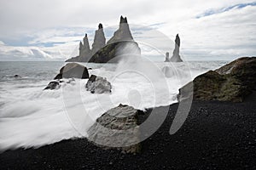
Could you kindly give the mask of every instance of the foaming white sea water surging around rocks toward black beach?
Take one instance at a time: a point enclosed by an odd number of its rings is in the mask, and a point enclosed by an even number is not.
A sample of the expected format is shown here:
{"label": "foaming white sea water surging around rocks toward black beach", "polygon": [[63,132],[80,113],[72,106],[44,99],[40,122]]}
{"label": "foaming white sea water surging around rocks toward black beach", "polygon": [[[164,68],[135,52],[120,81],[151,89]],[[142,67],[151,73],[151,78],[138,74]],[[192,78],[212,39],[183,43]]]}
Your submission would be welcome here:
{"label": "foaming white sea water surging around rocks toward black beach", "polygon": [[178,88],[226,63],[164,63],[148,59],[126,59],[119,64],[84,63],[91,68],[90,75],[106,77],[113,87],[111,94],[90,94],[84,88],[87,79],[63,83],[60,89],[43,90],[64,62],[0,62],[0,151],[84,138],[97,117],[119,104],[140,110],[171,105],[177,102]]}

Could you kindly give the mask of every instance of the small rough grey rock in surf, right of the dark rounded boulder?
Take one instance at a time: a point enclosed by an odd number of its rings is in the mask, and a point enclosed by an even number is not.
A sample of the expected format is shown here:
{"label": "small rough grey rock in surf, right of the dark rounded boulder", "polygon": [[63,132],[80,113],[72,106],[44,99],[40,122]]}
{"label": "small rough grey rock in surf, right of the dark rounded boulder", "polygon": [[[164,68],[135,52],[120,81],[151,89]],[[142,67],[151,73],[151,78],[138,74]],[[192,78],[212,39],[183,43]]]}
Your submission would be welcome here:
{"label": "small rough grey rock in surf, right of the dark rounded boulder", "polygon": [[85,88],[87,91],[90,91],[91,94],[103,94],[111,93],[112,86],[106,78],[91,75],[88,82],[85,85]]}

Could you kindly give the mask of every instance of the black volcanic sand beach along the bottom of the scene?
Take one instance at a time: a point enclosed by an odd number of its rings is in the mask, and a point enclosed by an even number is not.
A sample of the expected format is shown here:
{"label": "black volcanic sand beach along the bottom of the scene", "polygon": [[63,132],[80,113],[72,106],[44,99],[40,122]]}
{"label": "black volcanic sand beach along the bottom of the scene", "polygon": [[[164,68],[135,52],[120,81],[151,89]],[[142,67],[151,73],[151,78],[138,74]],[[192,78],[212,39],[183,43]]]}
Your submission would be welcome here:
{"label": "black volcanic sand beach along the bottom of the scene", "polygon": [[171,105],[166,121],[136,156],[70,139],[5,151],[0,169],[256,169],[255,101],[255,93],[243,103],[194,101],[173,135],[169,129],[177,104]]}

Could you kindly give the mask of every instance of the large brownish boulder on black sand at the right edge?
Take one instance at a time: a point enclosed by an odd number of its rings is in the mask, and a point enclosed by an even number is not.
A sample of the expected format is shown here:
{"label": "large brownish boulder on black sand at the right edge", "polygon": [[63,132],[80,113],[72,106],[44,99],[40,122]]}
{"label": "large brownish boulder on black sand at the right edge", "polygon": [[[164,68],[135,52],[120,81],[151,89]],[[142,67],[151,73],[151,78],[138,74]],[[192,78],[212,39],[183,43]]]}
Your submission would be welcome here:
{"label": "large brownish boulder on black sand at the right edge", "polygon": [[256,58],[245,57],[195,77],[179,89],[177,98],[183,100],[193,95],[199,100],[242,102],[255,87]]}

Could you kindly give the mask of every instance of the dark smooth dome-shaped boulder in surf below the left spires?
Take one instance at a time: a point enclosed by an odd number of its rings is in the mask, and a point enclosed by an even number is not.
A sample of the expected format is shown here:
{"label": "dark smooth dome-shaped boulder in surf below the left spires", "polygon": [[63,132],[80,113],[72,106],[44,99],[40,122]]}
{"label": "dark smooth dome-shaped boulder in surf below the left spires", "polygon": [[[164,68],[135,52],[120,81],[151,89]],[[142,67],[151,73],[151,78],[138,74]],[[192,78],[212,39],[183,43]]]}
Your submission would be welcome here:
{"label": "dark smooth dome-shaped boulder in surf below the left spires", "polygon": [[63,66],[60,73],[55,77],[55,79],[61,78],[89,78],[89,72],[84,65],[67,63],[67,65]]}

